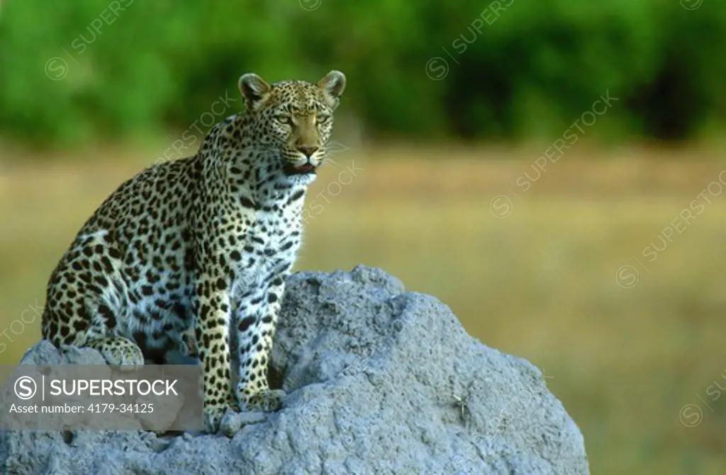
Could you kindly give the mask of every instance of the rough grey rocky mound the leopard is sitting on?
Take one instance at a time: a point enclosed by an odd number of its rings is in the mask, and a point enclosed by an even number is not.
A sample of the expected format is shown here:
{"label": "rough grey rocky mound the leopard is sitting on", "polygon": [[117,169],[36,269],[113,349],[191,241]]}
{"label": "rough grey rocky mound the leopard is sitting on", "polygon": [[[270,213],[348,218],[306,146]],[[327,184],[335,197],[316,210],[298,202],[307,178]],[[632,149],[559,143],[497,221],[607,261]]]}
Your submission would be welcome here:
{"label": "rough grey rocky mound the leopard is sitting on", "polygon": [[[271,374],[278,413],[232,434],[0,434],[12,474],[587,474],[574,421],[521,358],[472,338],[433,297],[382,270],[288,281]],[[25,363],[98,363],[38,344]],[[3,465],[4,464],[4,465]]]}

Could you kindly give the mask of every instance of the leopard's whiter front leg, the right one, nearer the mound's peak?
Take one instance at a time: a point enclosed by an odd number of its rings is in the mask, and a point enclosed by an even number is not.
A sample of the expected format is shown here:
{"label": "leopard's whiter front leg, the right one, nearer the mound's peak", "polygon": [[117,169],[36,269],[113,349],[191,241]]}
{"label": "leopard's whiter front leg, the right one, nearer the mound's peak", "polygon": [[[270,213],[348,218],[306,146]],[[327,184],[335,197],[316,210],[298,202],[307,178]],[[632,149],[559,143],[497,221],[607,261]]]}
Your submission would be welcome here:
{"label": "leopard's whiter front leg, the right one, nearer the mound's peak", "polygon": [[277,410],[285,392],[269,389],[267,381],[272,338],[280,315],[284,276],[277,276],[266,289],[253,289],[242,300],[237,331],[240,352],[239,381],[236,396],[248,410]]}

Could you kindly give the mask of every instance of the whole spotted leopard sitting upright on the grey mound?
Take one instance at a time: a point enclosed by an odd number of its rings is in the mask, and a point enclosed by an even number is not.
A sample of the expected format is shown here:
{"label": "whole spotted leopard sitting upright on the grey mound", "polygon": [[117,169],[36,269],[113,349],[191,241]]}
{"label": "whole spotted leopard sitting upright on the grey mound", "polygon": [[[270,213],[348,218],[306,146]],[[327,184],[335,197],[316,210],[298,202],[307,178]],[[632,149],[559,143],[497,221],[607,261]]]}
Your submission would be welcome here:
{"label": "whole spotted leopard sitting upright on the grey mound", "polygon": [[272,340],[345,86],[338,70],[317,83],[242,75],[244,110],[196,154],[122,183],[83,224],[49,278],[43,339],[125,368],[200,365],[208,432],[228,410],[280,410]]}

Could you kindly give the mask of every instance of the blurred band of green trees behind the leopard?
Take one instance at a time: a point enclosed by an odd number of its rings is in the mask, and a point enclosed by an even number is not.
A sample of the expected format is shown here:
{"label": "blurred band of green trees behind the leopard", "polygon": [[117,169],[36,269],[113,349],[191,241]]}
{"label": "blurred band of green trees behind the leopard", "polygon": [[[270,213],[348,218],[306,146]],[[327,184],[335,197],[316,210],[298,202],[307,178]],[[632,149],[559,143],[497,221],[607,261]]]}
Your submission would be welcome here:
{"label": "blurred band of green trees behind the leopard", "polygon": [[339,69],[381,136],[552,137],[609,91],[595,135],[690,139],[726,118],[725,33],[719,0],[6,0],[0,133],[186,128],[242,73]]}

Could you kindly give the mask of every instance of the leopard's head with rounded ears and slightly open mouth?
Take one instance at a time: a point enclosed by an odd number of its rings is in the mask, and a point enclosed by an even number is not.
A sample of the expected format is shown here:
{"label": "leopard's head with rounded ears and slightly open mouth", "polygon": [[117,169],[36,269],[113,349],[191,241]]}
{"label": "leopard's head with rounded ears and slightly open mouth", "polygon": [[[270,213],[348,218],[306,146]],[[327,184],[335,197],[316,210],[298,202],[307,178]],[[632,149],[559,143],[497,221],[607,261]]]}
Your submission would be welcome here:
{"label": "leopard's head with rounded ears and slightly open mouth", "polygon": [[330,71],[317,83],[269,85],[250,73],[239,81],[256,146],[279,152],[287,175],[315,173],[333,131],[333,111],[346,76]]}

